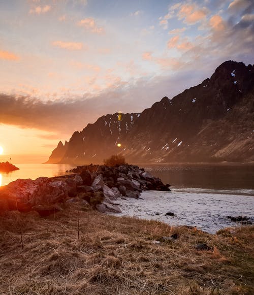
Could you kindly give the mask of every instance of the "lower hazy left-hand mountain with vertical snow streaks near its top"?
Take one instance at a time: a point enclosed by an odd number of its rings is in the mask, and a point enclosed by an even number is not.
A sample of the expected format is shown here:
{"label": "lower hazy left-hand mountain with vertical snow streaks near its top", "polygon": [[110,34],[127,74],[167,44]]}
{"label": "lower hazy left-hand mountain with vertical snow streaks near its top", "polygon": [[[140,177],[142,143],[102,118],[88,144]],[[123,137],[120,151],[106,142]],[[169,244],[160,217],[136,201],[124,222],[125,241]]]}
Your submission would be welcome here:
{"label": "lower hazy left-hand mountain with vertical snow streaks near its top", "polygon": [[[130,132],[139,115],[115,113],[100,117],[81,132],[74,132],[64,155],[55,163],[97,163],[108,155],[118,153],[122,148],[117,144]],[[54,151],[58,155],[58,147]]]}

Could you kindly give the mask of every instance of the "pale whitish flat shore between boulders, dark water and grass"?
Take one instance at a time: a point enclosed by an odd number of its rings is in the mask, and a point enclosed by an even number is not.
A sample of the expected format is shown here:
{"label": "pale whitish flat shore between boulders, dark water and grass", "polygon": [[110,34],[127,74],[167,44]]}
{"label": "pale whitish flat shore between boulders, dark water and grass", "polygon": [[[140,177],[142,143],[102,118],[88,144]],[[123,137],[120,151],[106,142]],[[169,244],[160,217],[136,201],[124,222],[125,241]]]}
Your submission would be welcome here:
{"label": "pale whitish flat shore between boulders, dark water and grass", "polygon": [[[238,194],[234,194],[233,191],[204,189],[145,191],[141,193],[140,199],[117,200],[122,213],[116,216],[153,219],[170,225],[191,225],[215,234],[220,228],[240,225],[227,216],[253,218],[254,195],[246,195],[253,192],[253,190],[246,192],[241,190]],[[167,212],[172,212],[176,216],[166,216]]]}

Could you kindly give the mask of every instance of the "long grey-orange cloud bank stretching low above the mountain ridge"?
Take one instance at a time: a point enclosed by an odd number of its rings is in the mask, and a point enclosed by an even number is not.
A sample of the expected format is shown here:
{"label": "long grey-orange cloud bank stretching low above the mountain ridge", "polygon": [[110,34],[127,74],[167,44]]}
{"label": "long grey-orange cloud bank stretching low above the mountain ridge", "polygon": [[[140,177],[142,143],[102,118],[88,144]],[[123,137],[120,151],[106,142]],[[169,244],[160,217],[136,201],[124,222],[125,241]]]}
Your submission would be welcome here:
{"label": "long grey-orange cloud bank stretching low above the mountain ridge", "polygon": [[[158,62],[165,62],[165,66],[167,63],[166,60]],[[109,84],[114,82],[112,79],[117,80],[117,77],[108,77]],[[63,135],[67,137],[75,130],[82,130],[102,115],[112,114],[118,110],[122,110],[123,113],[141,112],[161,100],[163,96],[172,97],[199,81],[200,77],[197,78],[186,71],[171,77],[141,78],[134,84],[123,85],[121,81],[119,85],[114,84],[97,95],[87,93],[75,99],[69,95],[67,100],[47,102],[31,96],[0,93],[0,124],[37,128],[50,134],[58,132],[61,133],[61,138]],[[48,139],[50,138],[51,136]]]}

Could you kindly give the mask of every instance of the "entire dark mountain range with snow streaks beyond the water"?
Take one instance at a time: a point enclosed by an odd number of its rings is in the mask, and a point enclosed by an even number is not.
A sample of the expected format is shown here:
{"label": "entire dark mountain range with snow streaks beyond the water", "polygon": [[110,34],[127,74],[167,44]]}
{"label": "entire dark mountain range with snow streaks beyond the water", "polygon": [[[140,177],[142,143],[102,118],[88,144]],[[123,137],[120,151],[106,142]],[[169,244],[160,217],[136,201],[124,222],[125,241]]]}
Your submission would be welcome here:
{"label": "entire dark mountain range with snow streaks beyond the water", "polygon": [[88,124],[55,162],[100,162],[114,153],[132,162],[253,161],[253,114],[254,67],[226,61],[172,100]]}

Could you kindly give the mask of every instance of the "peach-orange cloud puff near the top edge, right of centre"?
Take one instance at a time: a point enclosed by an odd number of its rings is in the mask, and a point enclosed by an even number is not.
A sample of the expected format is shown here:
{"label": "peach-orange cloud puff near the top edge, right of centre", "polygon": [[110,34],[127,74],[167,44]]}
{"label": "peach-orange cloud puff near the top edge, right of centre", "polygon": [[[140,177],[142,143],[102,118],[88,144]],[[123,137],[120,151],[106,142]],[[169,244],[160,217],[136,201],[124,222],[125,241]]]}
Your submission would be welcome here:
{"label": "peach-orange cloud puff near the top edge, right of centre", "polygon": [[184,19],[184,22],[188,24],[195,24],[205,18],[206,15],[206,8],[198,9],[198,7],[194,4],[184,4],[178,12],[178,18]]}

